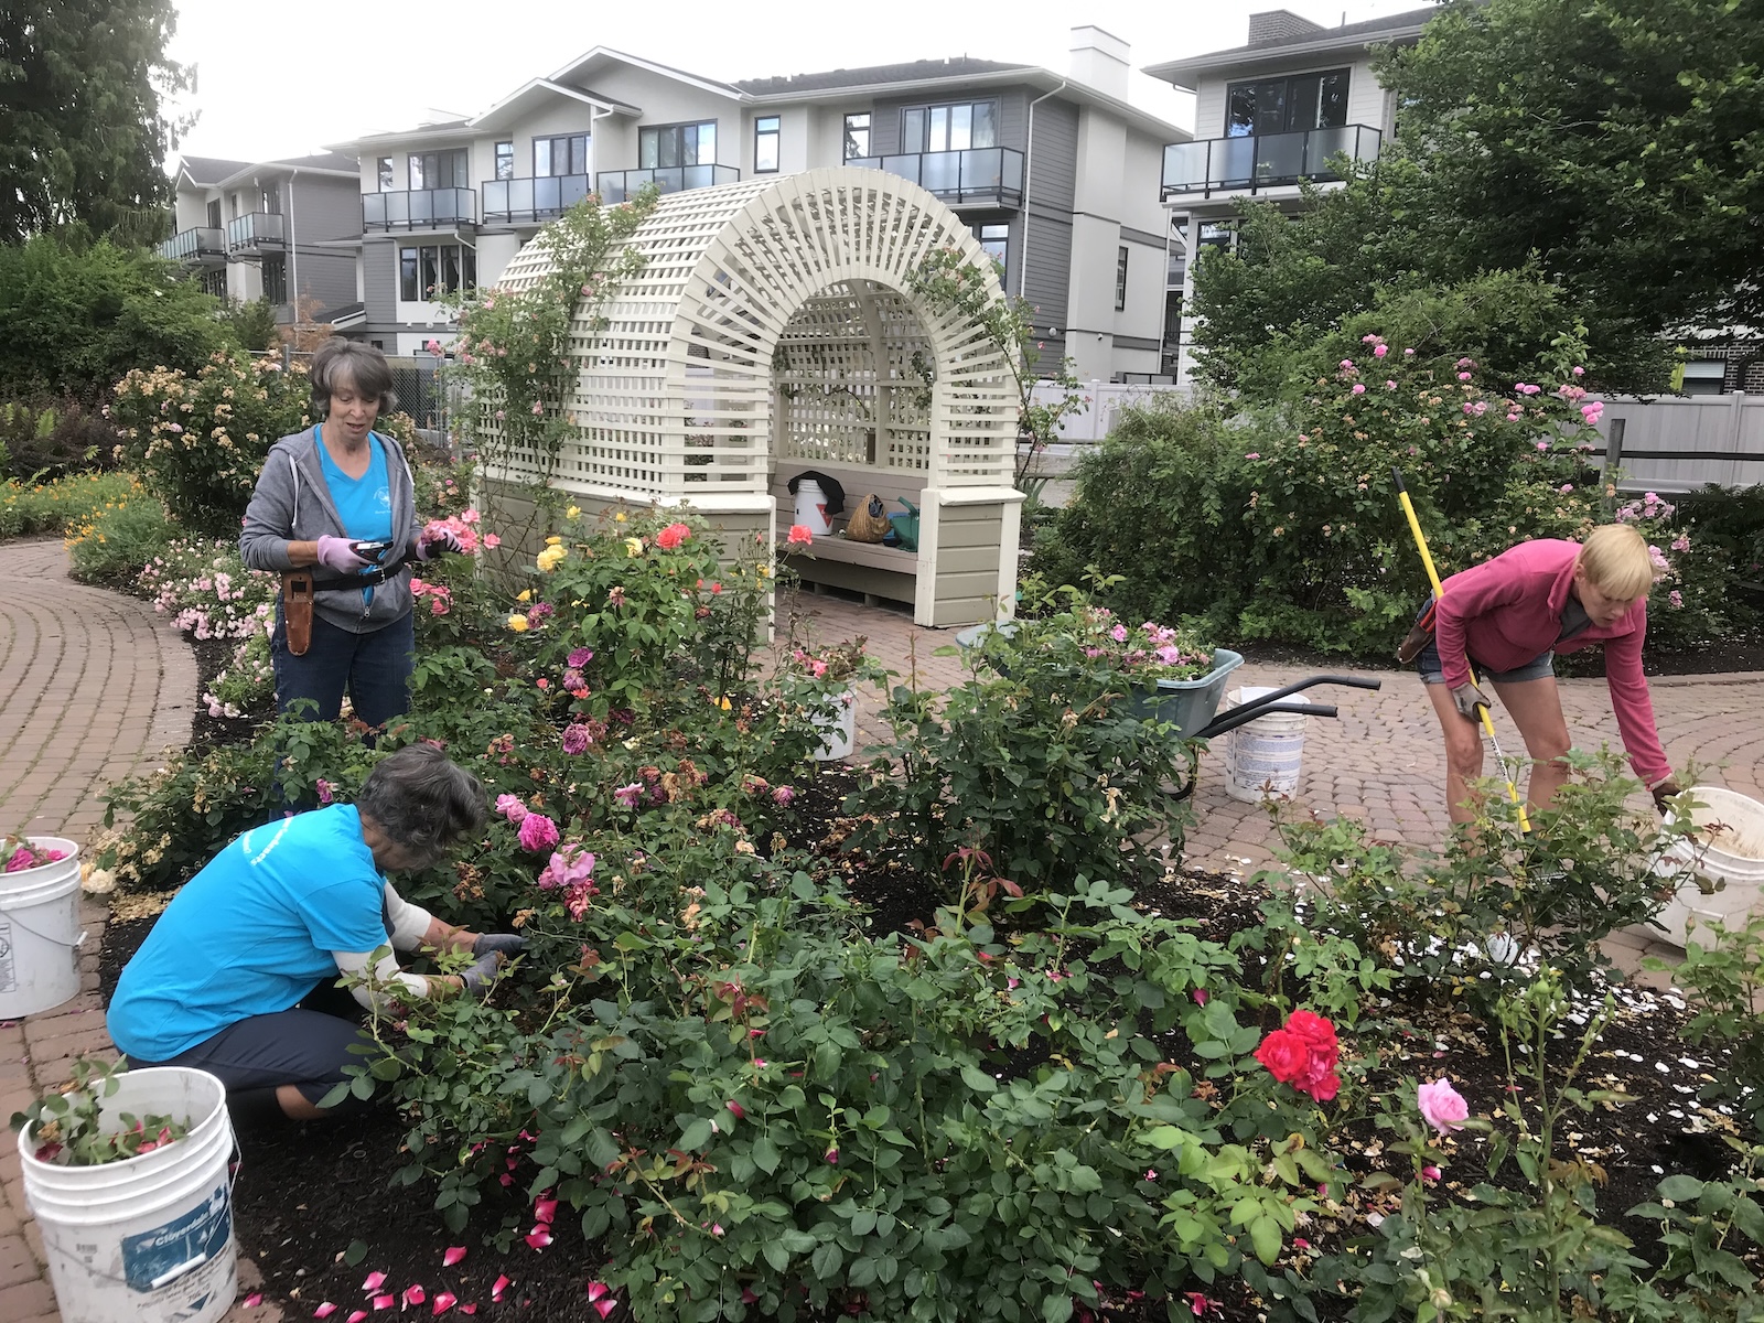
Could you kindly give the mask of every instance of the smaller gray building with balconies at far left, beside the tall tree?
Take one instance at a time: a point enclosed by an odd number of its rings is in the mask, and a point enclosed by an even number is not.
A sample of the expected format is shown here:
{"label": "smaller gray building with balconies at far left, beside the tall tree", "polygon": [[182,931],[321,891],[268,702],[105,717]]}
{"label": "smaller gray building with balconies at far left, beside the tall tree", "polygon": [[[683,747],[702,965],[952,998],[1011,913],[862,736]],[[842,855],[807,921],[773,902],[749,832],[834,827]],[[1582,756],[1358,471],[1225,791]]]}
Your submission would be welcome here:
{"label": "smaller gray building with balconies at far left, beside the tall tree", "polygon": [[355,157],[323,152],[289,161],[182,157],[173,235],[159,254],[217,298],[268,298],[295,319],[295,298],[348,316],[360,302],[362,233]]}

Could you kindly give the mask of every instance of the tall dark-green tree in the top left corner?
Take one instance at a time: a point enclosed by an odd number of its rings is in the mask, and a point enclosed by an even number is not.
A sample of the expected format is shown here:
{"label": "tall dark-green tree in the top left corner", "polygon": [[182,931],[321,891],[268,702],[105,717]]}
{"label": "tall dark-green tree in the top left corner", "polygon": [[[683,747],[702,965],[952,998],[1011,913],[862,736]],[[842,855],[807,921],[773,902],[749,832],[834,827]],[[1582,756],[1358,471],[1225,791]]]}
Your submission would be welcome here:
{"label": "tall dark-green tree in the top left corner", "polygon": [[169,185],[171,0],[0,5],[0,242],[81,222],[141,240]]}

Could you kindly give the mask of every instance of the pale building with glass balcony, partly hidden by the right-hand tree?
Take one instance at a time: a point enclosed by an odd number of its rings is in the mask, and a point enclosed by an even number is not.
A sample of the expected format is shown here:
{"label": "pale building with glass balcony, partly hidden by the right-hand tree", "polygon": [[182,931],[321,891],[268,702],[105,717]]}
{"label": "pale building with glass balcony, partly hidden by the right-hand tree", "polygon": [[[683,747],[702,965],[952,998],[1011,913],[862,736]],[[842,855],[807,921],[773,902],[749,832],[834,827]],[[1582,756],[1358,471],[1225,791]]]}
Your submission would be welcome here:
{"label": "pale building with glass balcony, partly hidden by the right-hand tree", "polygon": [[[1297,210],[1300,182],[1339,183],[1330,161],[1376,161],[1395,129],[1372,48],[1413,42],[1438,11],[1413,9],[1327,28],[1286,9],[1249,16],[1249,41],[1143,72],[1194,93],[1194,134],[1164,148],[1159,196],[1185,256],[1233,242],[1244,198]],[[1182,305],[1194,296],[1184,265]],[[1189,379],[1189,335],[1173,363]]]}

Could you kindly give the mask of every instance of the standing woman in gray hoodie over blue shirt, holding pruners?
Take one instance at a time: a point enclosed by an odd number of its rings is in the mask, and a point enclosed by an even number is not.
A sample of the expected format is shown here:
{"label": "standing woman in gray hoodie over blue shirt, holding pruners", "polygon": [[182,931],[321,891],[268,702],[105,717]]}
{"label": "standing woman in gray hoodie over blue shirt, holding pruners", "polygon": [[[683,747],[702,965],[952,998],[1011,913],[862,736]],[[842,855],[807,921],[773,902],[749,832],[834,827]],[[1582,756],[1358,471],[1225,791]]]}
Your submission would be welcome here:
{"label": "standing woman in gray hoodie over blue shirt, holding pruners", "polygon": [[404,450],[374,430],[395,407],[392,367],[370,346],[330,339],[312,356],[312,415],[270,446],[238,550],[282,575],[270,662],[277,711],[335,721],[342,695],[381,727],[409,707],[416,635],[409,561],[460,550],[422,534]]}

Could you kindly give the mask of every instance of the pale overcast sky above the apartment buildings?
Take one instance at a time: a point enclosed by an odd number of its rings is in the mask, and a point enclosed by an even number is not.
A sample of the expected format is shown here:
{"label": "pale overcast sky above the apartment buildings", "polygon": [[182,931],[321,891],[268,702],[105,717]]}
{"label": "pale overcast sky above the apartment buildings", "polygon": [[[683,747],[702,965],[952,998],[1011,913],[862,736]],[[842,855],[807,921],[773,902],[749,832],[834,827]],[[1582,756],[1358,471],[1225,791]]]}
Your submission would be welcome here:
{"label": "pale overcast sky above the apartment buildings", "polygon": [[[1288,0],[1334,26],[1420,9],[1425,0]],[[180,109],[191,155],[270,161],[358,134],[407,129],[430,109],[476,115],[594,46],[716,79],[857,69],[972,55],[1065,72],[1071,26],[1095,23],[1132,46],[1132,65],[1242,46],[1251,11],[1279,0],[182,0],[171,55],[196,67]],[[1192,97],[1143,74],[1136,106],[1192,127]]]}

